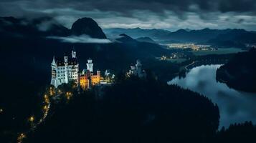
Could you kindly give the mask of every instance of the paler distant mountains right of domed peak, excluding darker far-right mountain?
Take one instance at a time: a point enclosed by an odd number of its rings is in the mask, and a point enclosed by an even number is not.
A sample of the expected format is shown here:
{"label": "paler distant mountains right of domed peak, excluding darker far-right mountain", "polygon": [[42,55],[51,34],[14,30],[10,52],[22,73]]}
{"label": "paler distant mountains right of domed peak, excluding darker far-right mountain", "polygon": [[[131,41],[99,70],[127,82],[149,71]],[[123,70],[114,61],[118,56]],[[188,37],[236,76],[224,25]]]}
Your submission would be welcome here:
{"label": "paler distant mountains right of domed peak, excluding darker far-right mountain", "polygon": [[167,31],[162,29],[104,29],[105,33],[109,36],[125,33],[133,38],[148,36],[156,41],[177,41],[177,42],[205,42],[209,39],[222,34],[227,30],[218,29],[202,29],[202,30],[189,30],[179,29],[177,31]]}

